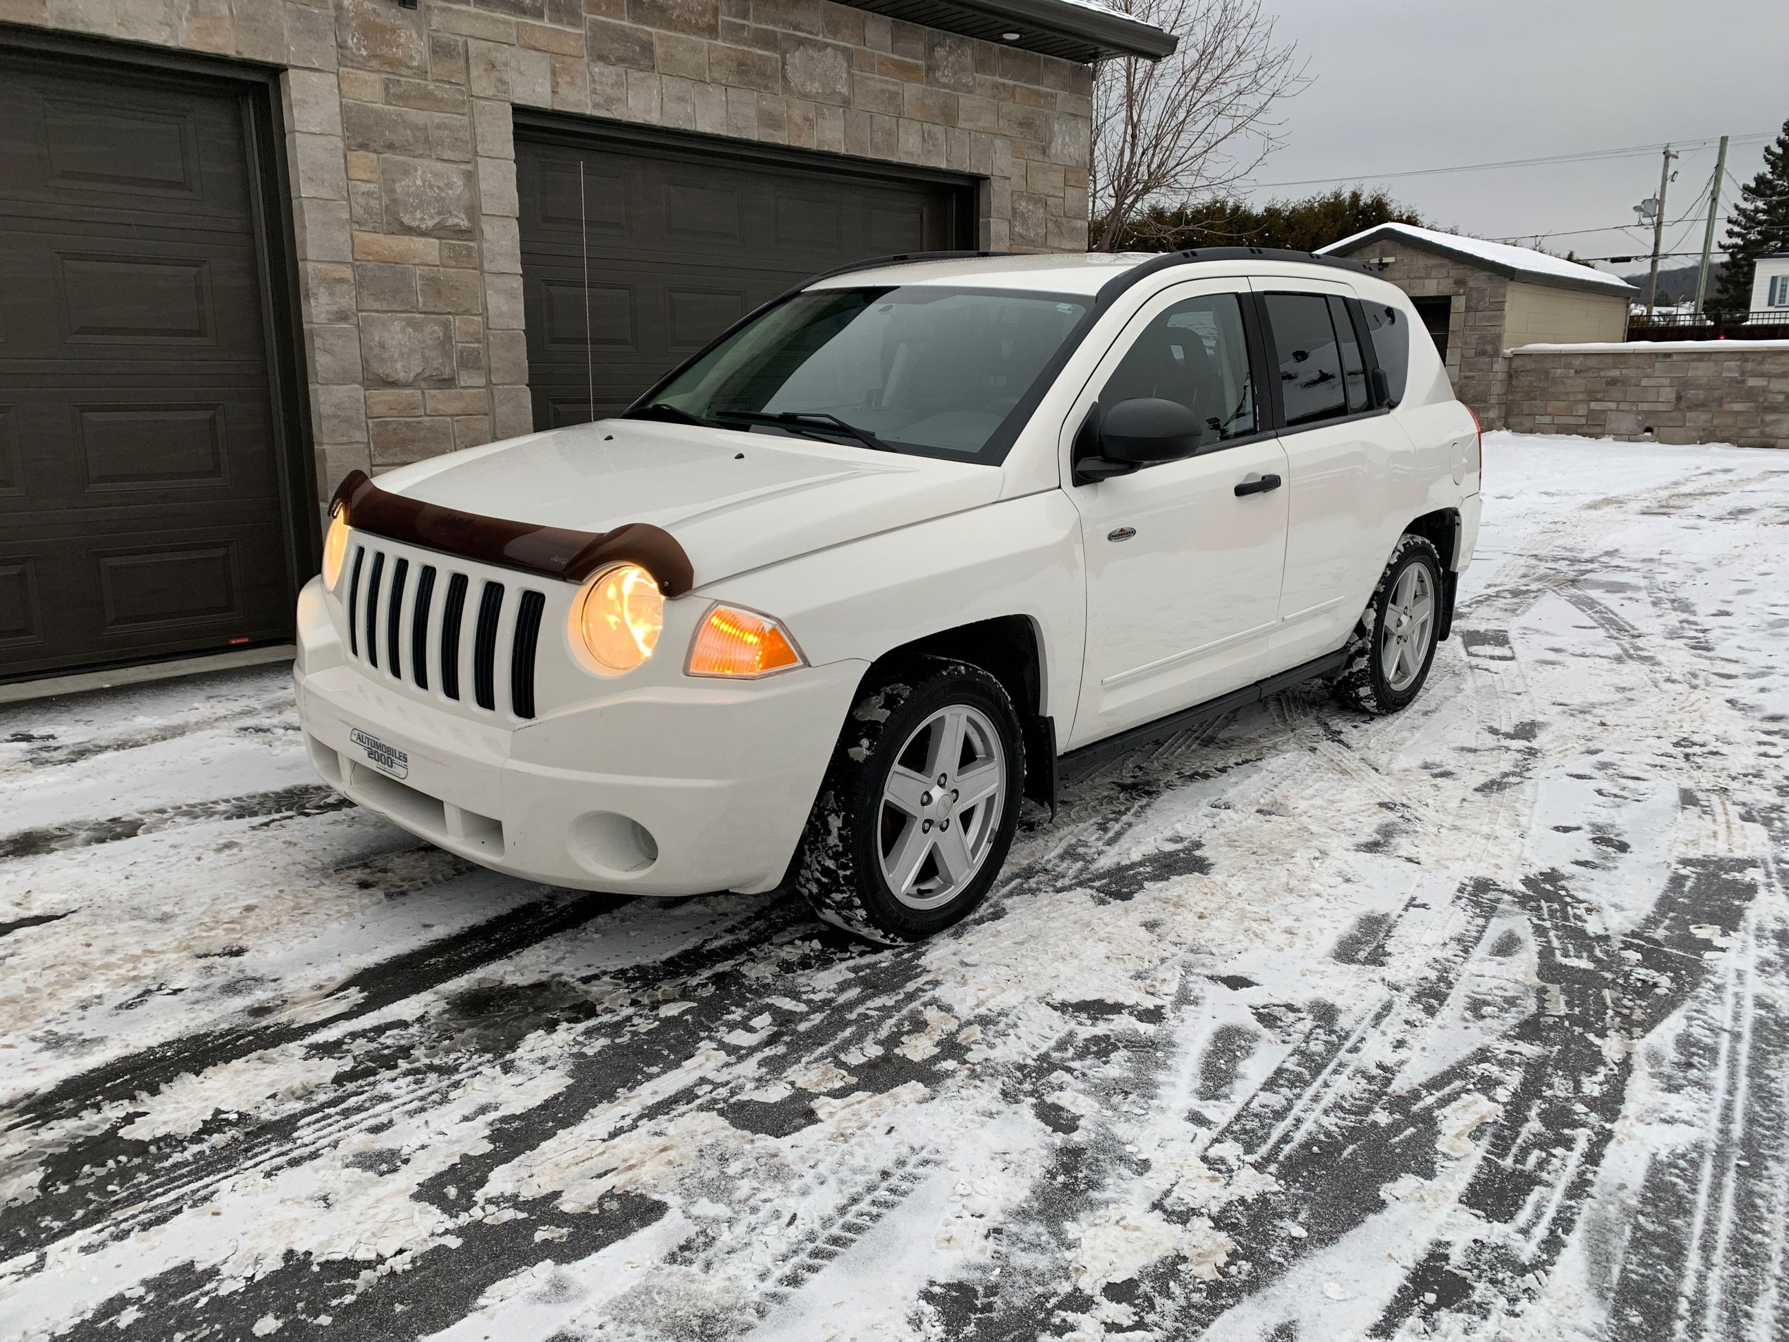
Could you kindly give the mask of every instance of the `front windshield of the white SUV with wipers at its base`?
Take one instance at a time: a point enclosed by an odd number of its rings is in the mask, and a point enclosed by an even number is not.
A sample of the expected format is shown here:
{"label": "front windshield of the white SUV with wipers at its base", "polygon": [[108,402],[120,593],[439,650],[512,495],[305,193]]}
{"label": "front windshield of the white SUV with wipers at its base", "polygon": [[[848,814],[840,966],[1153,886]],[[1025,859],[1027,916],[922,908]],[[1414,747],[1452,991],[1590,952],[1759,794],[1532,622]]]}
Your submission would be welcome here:
{"label": "front windshield of the white SUV with wipers at its base", "polygon": [[1056,293],[930,285],[798,293],[630,413],[993,463],[1086,311]]}

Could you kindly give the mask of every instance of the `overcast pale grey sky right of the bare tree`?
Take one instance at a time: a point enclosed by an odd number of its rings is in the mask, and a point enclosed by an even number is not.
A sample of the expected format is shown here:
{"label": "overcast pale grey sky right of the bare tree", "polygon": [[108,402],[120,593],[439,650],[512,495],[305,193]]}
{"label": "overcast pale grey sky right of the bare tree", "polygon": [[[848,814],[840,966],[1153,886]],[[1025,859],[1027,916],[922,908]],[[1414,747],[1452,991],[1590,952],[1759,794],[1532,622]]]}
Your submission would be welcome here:
{"label": "overcast pale grey sky right of the bare tree", "polygon": [[[1728,172],[1750,181],[1789,120],[1785,0],[1265,0],[1311,84],[1283,104],[1285,147],[1256,172],[1256,199],[1297,197],[1310,177],[1383,184],[1442,227],[1578,256],[1649,252],[1649,229],[1610,225],[1658,190],[1660,154],[1395,177],[1501,159],[1703,141],[1732,134]],[[1666,218],[1696,204],[1714,145],[1685,149]],[[1737,197],[1726,183],[1723,204]],[[1703,204],[1666,229],[1701,249]],[[1578,233],[1599,229],[1598,233]],[[1569,233],[1560,233],[1569,231]],[[1716,231],[1719,245],[1721,231]],[[1526,234],[1526,236],[1513,236]],[[1666,265],[1694,263],[1694,256]],[[1605,270],[1632,272],[1633,265]]]}

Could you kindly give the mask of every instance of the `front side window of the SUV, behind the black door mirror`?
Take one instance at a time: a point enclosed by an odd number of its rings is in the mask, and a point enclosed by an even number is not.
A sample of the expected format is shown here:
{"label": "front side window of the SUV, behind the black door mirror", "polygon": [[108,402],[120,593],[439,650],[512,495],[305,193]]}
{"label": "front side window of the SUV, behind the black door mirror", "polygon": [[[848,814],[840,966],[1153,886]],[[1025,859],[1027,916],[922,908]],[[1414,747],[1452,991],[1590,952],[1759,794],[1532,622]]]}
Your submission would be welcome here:
{"label": "front side window of the SUV, behind the black door mirror", "polygon": [[1254,383],[1234,293],[1183,299],[1132,342],[1100,390],[1100,406],[1150,397],[1177,401],[1202,426],[1200,447],[1256,431]]}

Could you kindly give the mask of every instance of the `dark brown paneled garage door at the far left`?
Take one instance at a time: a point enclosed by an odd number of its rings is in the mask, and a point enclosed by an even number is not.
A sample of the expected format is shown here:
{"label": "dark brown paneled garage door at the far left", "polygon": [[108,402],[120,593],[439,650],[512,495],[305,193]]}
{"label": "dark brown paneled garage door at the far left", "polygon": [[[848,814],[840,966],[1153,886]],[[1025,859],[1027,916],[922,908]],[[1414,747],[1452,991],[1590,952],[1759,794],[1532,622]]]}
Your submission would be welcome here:
{"label": "dark brown paneled garage door at the far left", "polygon": [[0,52],[0,680],[290,633],[249,97]]}

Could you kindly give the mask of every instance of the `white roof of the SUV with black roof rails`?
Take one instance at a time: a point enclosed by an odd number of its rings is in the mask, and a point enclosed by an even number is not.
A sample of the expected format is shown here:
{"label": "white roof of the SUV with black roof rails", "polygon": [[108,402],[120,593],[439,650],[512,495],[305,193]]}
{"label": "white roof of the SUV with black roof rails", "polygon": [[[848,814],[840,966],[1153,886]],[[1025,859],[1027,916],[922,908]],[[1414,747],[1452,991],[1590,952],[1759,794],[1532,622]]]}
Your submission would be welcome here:
{"label": "white roof of the SUV with black roof rails", "polygon": [[1013,288],[1032,293],[1098,293],[1107,281],[1143,265],[1186,267],[1224,265],[1227,270],[1243,265],[1247,270],[1274,274],[1288,265],[1344,268],[1365,274],[1352,261],[1285,252],[1265,247],[1204,247],[1190,252],[1041,252],[1032,256],[1005,256],[1000,252],[943,252],[918,256],[887,256],[864,261],[825,276],[816,276],[807,288],[864,288],[884,285],[952,285],[964,288]]}

